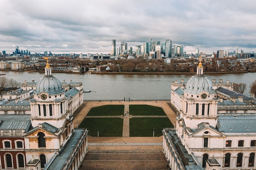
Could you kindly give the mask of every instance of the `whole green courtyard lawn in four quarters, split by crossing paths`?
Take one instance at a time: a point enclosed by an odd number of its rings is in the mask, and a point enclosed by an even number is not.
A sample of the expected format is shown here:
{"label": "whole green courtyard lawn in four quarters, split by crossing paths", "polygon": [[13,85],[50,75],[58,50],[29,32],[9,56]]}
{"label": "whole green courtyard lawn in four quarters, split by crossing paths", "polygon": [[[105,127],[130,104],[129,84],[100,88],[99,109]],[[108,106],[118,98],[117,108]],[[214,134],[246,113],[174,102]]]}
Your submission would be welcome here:
{"label": "whole green courtyard lawn in four quarters, split by crossing paths", "polygon": [[[124,105],[104,105],[92,108],[79,128],[88,128],[88,135],[97,137],[121,137],[123,132]],[[156,106],[130,105],[129,130],[130,137],[152,137],[162,135],[163,128],[172,128],[173,124],[168,119],[164,110]],[[90,117],[88,117],[90,116]],[[103,116],[103,117],[97,117]],[[115,116],[115,117],[111,117]],[[154,116],[154,117],[152,117]],[[155,117],[159,116],[159,117]]]}

